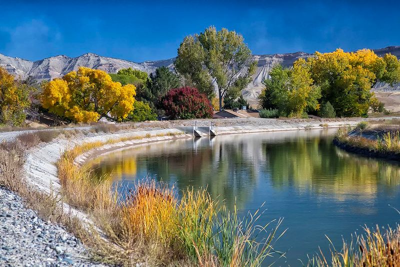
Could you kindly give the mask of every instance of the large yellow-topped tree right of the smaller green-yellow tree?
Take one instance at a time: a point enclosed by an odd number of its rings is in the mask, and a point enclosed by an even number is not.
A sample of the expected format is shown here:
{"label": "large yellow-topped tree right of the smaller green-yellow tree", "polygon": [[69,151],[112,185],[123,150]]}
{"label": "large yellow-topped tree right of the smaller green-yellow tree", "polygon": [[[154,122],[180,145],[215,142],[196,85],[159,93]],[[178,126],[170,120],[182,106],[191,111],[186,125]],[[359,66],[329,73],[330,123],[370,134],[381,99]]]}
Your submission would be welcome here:
{"label": "large yellow-topped tree right of the smaller green-yellow tree", "polygon": [[369,49],[315,52],[306,65],[314,84],[321,88],[322,103],[329,102],[338,116],[365,115],[373,99],[370,90],[377,82],[400,82],[400,61],[391,54],[379,57]]}

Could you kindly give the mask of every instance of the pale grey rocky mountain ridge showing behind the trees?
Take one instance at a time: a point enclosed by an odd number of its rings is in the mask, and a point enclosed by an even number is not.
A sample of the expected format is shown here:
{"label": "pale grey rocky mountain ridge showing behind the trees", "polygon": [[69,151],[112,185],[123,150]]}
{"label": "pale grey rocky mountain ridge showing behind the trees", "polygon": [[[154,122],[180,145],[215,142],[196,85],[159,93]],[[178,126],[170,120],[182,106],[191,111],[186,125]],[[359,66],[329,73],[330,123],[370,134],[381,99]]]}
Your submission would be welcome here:
{"label": "pale grey rocky mountain ridge showing behind the trees", "polygon": [[[386,47],[383,49],[374,50],[379,56],[386,53],[391,53],[397,58],[400,58],[400,46]],[[254,60],[258,62],[257,70],[253,75],[253,81],[249,83],[243,96],[249,100],[255,100],[260,90],[262,89],[262,80],[268,77],[268,73],[272,66],[279,63],[283,66],[289,67],[299,58],[307,58],[312,54],[303,52],[289,53],[289,54],[275,54],[275,55],[254,55]],[[132,61],[101,57],[96,54],[87,53],[77,58],[69,58],[66,56],[55,56],[38,61],[28,61],[19,58],[11,58],[0,54],[0,66],[5,67],[6,70],[18,77],[24,78],[28,75],[33,76],[38,80],[50,80],[59,78],[66,73],[77,70],[80,66],[100,69],[107,73],[116,73],[123,68],[133,68],[147,73],[154,72],[156,68],[165,66],[173,68],[174,58],[159,61],[145,61],[142,63],[135,63]],[[393,91],[400,90],[400,84],[390,87],[387,84],[378,83],[374,90],[379,91]]]}

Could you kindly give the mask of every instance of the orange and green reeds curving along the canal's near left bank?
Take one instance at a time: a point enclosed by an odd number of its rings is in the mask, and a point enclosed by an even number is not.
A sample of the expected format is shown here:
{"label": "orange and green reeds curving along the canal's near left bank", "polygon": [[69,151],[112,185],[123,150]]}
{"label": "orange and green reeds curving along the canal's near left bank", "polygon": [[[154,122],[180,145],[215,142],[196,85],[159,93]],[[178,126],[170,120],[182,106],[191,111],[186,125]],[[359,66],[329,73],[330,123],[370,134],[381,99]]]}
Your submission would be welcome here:
{"label": "orange and green reeds curving along the canal's near left bank", "polygon": [[120,141],[127,139],[76,146],[58,162],[68,203],[90,214],[116,246],[103,257],[122,265],[259,266],[275,254],[271,244],[281,220],[257,225],[261,210],[240,219],[204,189],[188,188],[178,198],[174,188],[153,180],[117,195],[108,177],[93,180],[87,167],[74,164],[76,156]]}

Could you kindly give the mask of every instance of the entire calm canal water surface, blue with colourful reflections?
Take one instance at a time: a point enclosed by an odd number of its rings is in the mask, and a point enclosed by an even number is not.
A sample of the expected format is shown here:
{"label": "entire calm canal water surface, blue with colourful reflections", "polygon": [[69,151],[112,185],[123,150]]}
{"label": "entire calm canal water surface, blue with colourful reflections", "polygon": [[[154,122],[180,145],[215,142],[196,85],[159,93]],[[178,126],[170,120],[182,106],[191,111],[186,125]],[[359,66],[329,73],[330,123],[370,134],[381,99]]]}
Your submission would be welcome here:
{"label": "entire calm canal water surface, blue with colourful reflections", "polygon": [[258,224],[283,218],[279,230],[287,229],[274,245],[286,252],[276,265],[301,266],[319,247],[329,251],[326,236],[338,248],[365,225],[400,221],[392,208],[400,209],[400,164],[346,153],[332,145],[333,135],[325,129],[162,141],[106,154],[92,168],[124,187],[146,177],[177,189],[206,187],[228,207],[236,202],[240,216],[265,202]]}

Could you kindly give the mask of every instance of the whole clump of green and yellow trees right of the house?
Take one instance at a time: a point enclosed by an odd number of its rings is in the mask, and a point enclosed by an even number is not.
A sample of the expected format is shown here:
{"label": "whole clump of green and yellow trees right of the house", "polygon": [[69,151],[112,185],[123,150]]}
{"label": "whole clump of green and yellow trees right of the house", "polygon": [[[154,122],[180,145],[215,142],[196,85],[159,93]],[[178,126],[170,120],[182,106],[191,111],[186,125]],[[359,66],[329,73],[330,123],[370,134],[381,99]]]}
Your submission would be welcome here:
{"label": "whole clump of green and yellow trees right of the house", "polygon": [[274,66],[269,76],[259,97],[265,109],[276,108],[283,116],[296,117],[318,112],[320,104],[329,103],[333,107],[329,116],[364,116],[371,104],[379,105],[370,92],[377,82],[400,82],[400,61],[368,49],[351,53],[337,49],[298,59],[291,69]]}

